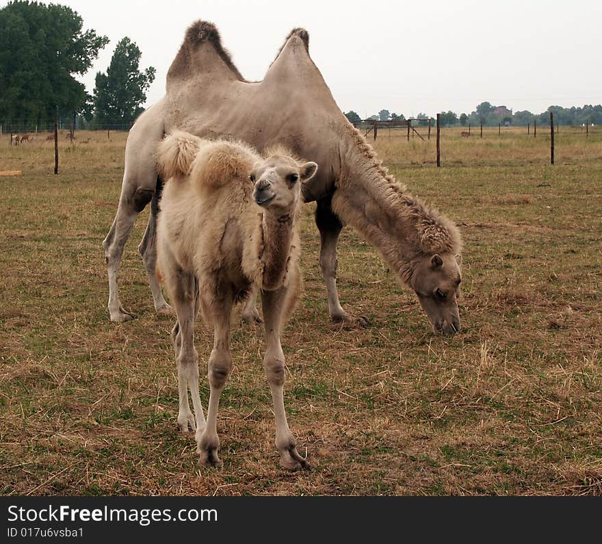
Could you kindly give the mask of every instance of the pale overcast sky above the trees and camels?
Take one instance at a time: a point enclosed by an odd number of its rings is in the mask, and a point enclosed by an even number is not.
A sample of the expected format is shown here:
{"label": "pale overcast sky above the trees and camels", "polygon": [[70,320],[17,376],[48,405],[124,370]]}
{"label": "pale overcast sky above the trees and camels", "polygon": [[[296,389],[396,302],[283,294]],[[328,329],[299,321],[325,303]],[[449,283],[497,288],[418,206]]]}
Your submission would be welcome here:
{"label": "pale overcast sky above the trees and camels", "polygon": [[[5,5],[6,1],[0,1]],[[146,105],[163,96],[167,70],[197,19],[220,30],[248,80],[263,79],[293,27],[309,31],[310,54],[343,112],[380,109],[416,116],[472,112],[478,103],[514,112],[602,103],[602,1],[429,0],[356,2],[54,0],[109,37],[83,79],[91,93],[124,36],[157,76]]]}

